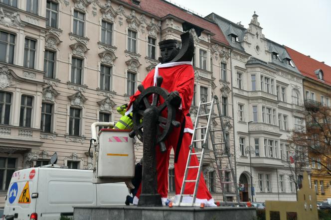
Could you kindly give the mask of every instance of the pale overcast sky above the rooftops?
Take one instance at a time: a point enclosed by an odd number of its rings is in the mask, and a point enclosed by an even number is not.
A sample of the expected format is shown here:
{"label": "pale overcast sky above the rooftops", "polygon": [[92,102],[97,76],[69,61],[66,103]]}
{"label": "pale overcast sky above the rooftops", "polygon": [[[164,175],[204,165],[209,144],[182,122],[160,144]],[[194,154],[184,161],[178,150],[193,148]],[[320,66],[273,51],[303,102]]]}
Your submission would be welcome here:
{"label": "pale overcast sky above the rooftops", "polygon": [[[248,27],[254,11],[266,38],[331,66],[331,0],[171,0]],[[189,3],[188,3],[189,2]]]}

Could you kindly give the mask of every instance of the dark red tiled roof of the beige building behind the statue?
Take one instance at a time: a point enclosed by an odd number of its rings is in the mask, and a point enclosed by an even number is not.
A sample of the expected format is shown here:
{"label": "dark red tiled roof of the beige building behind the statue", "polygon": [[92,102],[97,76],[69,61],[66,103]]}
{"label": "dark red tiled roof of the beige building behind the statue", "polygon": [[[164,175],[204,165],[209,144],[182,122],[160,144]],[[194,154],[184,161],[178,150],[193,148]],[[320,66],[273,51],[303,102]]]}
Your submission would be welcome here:
{"label": "dark red tiled roof of the beige building behind the statue", "polygon": [[218,28],[217,24],[208,21],[207,19],[200,17],[198,15],[192,14],[185,9],[182,9],[174,4],[171,4],[165,0],[142,0],[138,5],[132,3],[132,0],[119,0],[120,2],[125,2],[133,7],[139,8],[151,14],[154,14],[160,18],[165,17],[168,14],[174,15],[182,20],[189,23],[195,24],[203,29],[212,32],[213,36],[211,38],[222,44],[229,45],[222,31]]}

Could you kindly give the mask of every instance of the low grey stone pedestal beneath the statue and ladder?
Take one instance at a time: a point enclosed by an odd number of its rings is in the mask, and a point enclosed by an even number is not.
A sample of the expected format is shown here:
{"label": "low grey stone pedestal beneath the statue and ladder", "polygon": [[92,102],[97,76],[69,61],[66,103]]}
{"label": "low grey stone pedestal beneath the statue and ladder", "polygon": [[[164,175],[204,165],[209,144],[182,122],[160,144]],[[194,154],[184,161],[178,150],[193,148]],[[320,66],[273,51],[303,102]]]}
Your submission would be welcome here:
{"label": "low grey stone pedestal beneath the statue and ladder", "polygon": [[248,207],[74,207],[74,220],[252,220]]}

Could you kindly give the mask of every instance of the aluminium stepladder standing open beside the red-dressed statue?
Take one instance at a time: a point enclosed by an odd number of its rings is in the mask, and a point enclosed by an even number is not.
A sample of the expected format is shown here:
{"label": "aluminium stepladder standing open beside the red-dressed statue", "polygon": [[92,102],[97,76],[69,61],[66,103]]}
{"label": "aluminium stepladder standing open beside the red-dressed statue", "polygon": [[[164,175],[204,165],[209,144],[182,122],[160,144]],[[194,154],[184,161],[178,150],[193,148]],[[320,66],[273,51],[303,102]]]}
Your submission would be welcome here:
{"label": "aluminium stepladder standing open beside the red-dressed statue", "polygon": [[[217,111],[218,111],[218,115],[216,114],[216,116],[215,116],[215,113],[213,113],[215,105],[217,106]],[[202,107],[204,108],[204,112],[202,112],[202,110],[201,110]],[[202,126],[202,125],[199,126],[199,119],[201,117],[205,117],[207,119],[206,126]],[[215,118],[219,118],[219,120],[220,120],[220,128],[218,128],[218,129],[213,128],[211,125],[212,120]],[[203,139],[196,139],[195,138],[195,136],[197,136],[196,131],[202,130],[202,129],[205,129]],[[221,132],[220,135],[222,137],[223,142],[215,142],[215,136],[217,135],[216,132]],[[183,178],[183,182],[182,182],[182,186],[181,186],[181,190],[180,190],[179,201],[177,203],[173,204],[173,206],[200,206],[200,204],[195,203],[195,200],[196,200],[196,195],[197,195],[197,190],[198,190],[198,185],[199,185],[199,180],[200,180],[199,177],[200,177],[200,174],[202,171],[202,164],[203,164],[204,150],[205,150],[204,148],[208,143],[208,140],[207,140],[208,133],[210,135],[210,139],[211,139],[211,143],[212,143],[212,147],[213,147],[213,152],[214,152],[214,157],[215,157],[215,162],[216,162],[216,167],[217,167],[217,173],[219,175],[220,187],[221,187],[222,194],[223,194],[223,201],[227,202],[227,196],[236,196],[237,202],[240,201],[239,191],[238,191],[238,187],[236,184],[236,176],[235,176],[235,172],[233,170],[233,166],[232,166],[232,162],[231,162],[230,148],[229,148],[228,142],[225,138],[225,131],[224,131],[224,125],[223,125],[223,118],[222,118],[222,114],[221,114],[221,108],[220,108],[217,96],[214,96],[212,98],[211,102],[204,103],[204,101],[202,100],[199,103],[199,107],[198,107],[198,111],[197,111],[196,119],[195,119],[195,123],[194,123],[194,130],[193,130],[193,134],[192,134],[191,144],[189,146],[189,152],[188,152],[188,157],[187,157],[187,162],[186,162],[186,167],[185,167],[185,172],[184,172],[184,178]],[[194,144],[196,144],[198,142],[201,142],[201,152],[193,153],[192,152],[193,146],[194,146]],[[200,155],[200,161],[199,161],[198,166],[189,166],[192,155]],[[222,168],[222,158],[228,159],[228,166],[226,168]],[[187,175],[188,175],[189,169],[198,169],[196,179],[187,180]],[[226,170],[230,170],[232,181],[230,181],[229,179],[227,179],[227,180],[224,179],[224,175],[222,172],[223,171],[225,172]],[[189,183],[189,182],[193,182],[195,184],[193,194],[184,194],[185,185],[186,185],[186,183]],[[226,184],[233,184],[235,193],[228,194],[227,192],[225,192]],[[183,200],[184,196],[191,196],[192,202],[183,203],[182,200]]]}

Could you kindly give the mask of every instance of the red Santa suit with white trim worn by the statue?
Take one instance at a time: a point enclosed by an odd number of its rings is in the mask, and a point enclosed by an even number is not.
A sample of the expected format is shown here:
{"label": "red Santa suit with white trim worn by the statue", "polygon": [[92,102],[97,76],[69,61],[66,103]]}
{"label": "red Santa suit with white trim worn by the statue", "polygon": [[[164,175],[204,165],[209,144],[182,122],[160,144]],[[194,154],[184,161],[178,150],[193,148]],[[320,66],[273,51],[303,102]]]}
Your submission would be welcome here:
{"label": "red Santa suit with white trim worn by the statue", "polygon": [[[148,88],[156,85],[156,78],[158,76],[163,77],[162,88],[166,89],[169,93],[178,91],[181,97],[181,106],[176,110],[176,120],[183,122],[184,126],[182,141],[180,144],[180,150],[177,155],[177,161],[174,163],[174,178],[175,178],[175,193],[176,200],[179,199],[180,189],[184,177],[187,156],[189,152],[189,145],[191,143],[193,124],[189,116],[189,109],[191,107],[194,89],[194,71],[191,62],[173,62],[166,64],[159,64],[154,70],[152,70],[142,82],[144,88]],[[140,95],[140,91],[137,91],[130,99],[128,111],[126,114],[132,111],[132,103]],[[163,103],[164,100],[160,100]],[[166,201],[168,193],[168,166],[171,147],[174,152],[177,152],[178,139],[180,136],[181,127],[173,127],[171,133],[165,140],[165,146],[167,151],[165,153],[160,152],[159,146],[156,146],[156,160],[157,160],[157,173],[158,173],[158,193],[162,197],[163,204]],[[193,150],[194,152],[194,150]],[[190,166],[198,166],[198,160],[196,155],[192,155]],[[188,180],[195,180],[197,175],[197,169],[189,169]],[[184,194],[193,194],[195,183],[186,183]],[[138,189],[138,193],[134,198],[134,204],[138,204],[138,199],[141,194],[141,186]],[[183,197],[183,202],[191,202],[192,197]],[[215,206],[206,183],[203,179],[202,173],[200,174],[200,181],[196,196],[196,203],[205,203],[205,206]]]}

